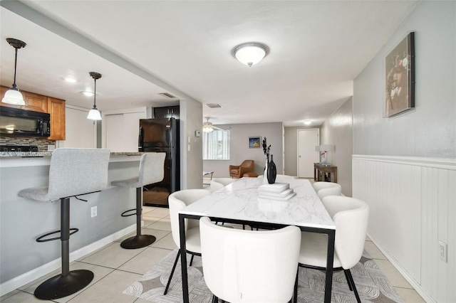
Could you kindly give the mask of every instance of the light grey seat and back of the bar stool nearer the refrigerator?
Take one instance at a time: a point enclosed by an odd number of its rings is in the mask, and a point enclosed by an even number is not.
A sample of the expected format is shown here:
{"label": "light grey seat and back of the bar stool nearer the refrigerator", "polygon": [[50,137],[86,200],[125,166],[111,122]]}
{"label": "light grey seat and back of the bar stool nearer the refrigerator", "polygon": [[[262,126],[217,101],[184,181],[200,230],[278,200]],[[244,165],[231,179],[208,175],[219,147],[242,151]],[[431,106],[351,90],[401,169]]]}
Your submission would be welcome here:
{"label": "light grey seat and back of the bar stool nearer the refrigerator", "polygon": [[111,185],[139,188],[162,181],[165,176],[165,156],[164,152],[142,154],[139,176],[132,179],[112,181]]}

